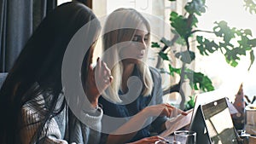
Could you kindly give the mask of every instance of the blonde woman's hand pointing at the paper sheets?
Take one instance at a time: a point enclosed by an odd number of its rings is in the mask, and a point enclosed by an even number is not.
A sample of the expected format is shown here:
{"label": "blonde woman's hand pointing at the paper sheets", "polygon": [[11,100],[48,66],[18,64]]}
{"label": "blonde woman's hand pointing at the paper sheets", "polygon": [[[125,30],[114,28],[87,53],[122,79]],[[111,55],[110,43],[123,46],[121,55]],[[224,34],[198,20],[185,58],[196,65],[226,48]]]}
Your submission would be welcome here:
{"label": "blonde woman's hand pointing at the paper sheets", "polygon": [[154,105],[150,107],[145,107],[143,109],[143,112],[146,114],[146,117],[150,116],[166,116],[168,118],[172,117],[173,114],[175,113],[180,113],[183,115],[187,115],[187,112],[183,112],[182,110],[172,107],[169,104],[159,104],[159,105]]}

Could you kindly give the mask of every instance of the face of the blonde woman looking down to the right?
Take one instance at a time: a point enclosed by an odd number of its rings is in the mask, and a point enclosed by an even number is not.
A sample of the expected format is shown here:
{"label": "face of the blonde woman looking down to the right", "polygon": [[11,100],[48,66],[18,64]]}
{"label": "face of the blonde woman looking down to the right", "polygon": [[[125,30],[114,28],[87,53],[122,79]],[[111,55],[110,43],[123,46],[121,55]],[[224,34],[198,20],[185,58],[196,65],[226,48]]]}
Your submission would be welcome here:
{"label": "face of the blonde woman looking down to the right", "polygon": [[[148,47],[149,33],[147,27],[143,24],[139,26],[131,39],[119,51],[119,56],[123,62],[137,64],[146,56]],[[127,44],[128,43],[128,44]]]}

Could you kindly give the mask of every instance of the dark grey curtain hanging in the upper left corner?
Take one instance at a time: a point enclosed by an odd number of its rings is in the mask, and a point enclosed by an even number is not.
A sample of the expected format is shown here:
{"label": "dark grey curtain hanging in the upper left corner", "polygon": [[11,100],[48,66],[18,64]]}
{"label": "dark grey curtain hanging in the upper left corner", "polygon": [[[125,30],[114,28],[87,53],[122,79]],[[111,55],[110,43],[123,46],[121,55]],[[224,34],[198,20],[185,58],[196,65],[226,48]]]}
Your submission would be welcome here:
{"label": "dark grey curtain hanging in the upper left corner", "polygon": [[21,49],[57,0],[0,0],[0,72],[9,72]]}

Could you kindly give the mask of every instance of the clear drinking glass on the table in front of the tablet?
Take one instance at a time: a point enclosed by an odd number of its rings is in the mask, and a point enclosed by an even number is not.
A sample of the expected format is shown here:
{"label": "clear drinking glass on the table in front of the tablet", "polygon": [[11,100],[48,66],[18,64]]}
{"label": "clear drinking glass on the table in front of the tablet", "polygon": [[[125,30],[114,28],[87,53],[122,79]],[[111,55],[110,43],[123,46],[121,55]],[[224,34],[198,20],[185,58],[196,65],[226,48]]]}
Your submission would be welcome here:
{"label": "clear drinking glass on the table in front of the tablet", "polygon": [[196,132],[189,130],[174,131],[174,141],[180,141],[181,144],[195,144]]}

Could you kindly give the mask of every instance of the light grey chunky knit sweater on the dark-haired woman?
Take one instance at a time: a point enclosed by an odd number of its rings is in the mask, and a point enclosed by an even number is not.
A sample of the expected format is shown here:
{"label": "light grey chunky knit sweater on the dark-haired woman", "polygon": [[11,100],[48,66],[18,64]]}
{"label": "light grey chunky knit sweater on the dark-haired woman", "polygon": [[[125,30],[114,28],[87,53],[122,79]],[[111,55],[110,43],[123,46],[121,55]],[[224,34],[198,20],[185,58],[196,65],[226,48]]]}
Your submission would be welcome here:
{"label": "light grey chunky knit sweater on the dark-haired woman", "polygon": [[[45,104],[44,96],[39,95],[37,99],[40,101],[37,101],[36,105],[32,101],[28,101],[21,110],[21,125],[23,125],[23,127],[20,130],[20,139],[23,144],[35,143],[33,136],[36,134],[40,124],[35,122],[44,118],[44,113],[38,111],[42,108],[40,105]],[[57,107],[60,106],[61,102],[57,104]],[[79,121],[79,119],[65,107],[59,115],[49,119],[49,123],[47,127],[44,127],[40,140],[42,140],[42,143],[49,144],[99,143],[101,137],[100,131],[102,129],[102,108],[99,107],[95,111],[88,110],[87,112],[88,113],[84,113],[84,119],[86,120],[86,124],[90,124],[90,126]]]}

